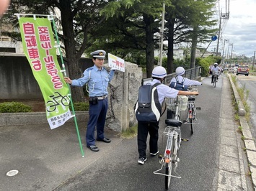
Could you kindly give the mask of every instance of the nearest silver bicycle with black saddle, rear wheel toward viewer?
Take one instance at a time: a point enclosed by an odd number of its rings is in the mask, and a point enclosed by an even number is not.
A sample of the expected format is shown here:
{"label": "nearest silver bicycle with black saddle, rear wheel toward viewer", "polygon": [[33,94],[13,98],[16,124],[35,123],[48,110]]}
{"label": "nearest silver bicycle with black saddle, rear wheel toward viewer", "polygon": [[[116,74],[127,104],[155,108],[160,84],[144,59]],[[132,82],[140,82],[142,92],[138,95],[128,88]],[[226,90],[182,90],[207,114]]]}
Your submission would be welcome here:
{"label": "nearest silver bicycle with black saddle, rear wheel toward viewer", "polygon": [[[169,189],[172,177],[179,179],[181,178],[180,175],[177,174],[176,169],[177,163],[180,162],[180,158],[177,155],[177,151],[180,149],[181,144],[180,126],[182,125],[182,121],[180,121],[179,106],[181,106],[182,101],[182,96],[177,96],[176,99],[169,98],[169,103],[167,103],[167,106],[175,107],[175,116],[174,118],[167,118],[165,120],[165,124],[167,124],[167,127],[164,129],[163,137],[167,137],[167,144],[165,146],[164,156],[159,155],[159,163],[162,164],[162,167],[153,172],[154,174],[160,174],[165,176],[164,185],[165,189],[167,190]],[[165,167],[164,173],[160,172],[163,169],[163,167]]]}

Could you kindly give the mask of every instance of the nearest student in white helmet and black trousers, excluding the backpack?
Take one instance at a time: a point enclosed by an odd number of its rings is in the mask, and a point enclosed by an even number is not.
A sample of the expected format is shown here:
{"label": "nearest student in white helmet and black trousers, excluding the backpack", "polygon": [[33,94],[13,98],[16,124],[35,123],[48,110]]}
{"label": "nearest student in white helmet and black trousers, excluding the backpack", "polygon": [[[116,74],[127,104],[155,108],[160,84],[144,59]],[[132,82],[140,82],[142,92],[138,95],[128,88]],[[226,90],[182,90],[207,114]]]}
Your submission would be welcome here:
{"label": "nearest student in white helmet and black trousers, excluding the backpack", "polygon": [[[159,103],[163,103],[164,98],[176,98],[177,95],[198,95],[198,92],[187,92],[181,90],[175,90],[170,88],[168,85],[162,84],[164,82],[164,78],[167,76],[167,72],[164,67],[157,66],[152,71],[153,80],[150,82],[151,85],[155,83],[161,83],[156,86]],[[159,121],[158,122],[139,122],[138,121],[138,164],[144,164],[146,162],[146,139],[148,134],[149,138],[149,152],[151,156],[156,156],[159,153],[157,142],[158,142],[158,129],[159,129]]]}

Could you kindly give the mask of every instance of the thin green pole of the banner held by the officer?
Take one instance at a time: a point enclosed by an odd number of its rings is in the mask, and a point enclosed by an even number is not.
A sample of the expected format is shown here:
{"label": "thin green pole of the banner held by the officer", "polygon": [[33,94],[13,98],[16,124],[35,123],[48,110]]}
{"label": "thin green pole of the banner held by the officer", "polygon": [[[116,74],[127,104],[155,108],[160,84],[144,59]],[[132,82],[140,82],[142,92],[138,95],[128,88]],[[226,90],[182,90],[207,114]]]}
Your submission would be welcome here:
{"label": "thin green pole of the banner held by the officer", "polygon": [[[53,29],[54,29],[54,32],[55,32],[55,35],[56,35],[56,41],[57,41],[57,46],[58,47],[58,51],[60,52],[60,56],[61,56],[61,66],[63,68],[63,70],[61,70],[61,72],[64,73],[64,76],[66,77],[66,69],[65,69],[65,65],[64,65],[64,62],[63,62],[63,57],[62,57],[62,53],[61,53],[61,47],[60,47],[60,43],[58,41],[58,34],[57,34],[57,29],[56,29],[56,24],[54,22],[54,19],[53,19],[53,15],[48,15],[48,19],[51,20],[53,22]],[[81,150],[81,157],[84,157],[84,149],[83,149],[83,146],[81,144],[81,138],[80,138],[80,134],[79,134],[79,128],[78,128],[78,124],[77,124],[77,121],[76,121],[76,114],[75,114],[75,111],[74,111],[74,104],[73,104],[73,101],[72,101],[72,97],[71,97],[71,89],[70,89],[70,86],[68,85],[69,87],[69,98],[70,98],[70,103],[71,103],[71,108],[72,108],[72,113],[73,113],[73,116],[74,116],[74,122],[75,122],[75,125],[76,125],[76,133],[77,133],[77,137],[78,137],[78,140],[79,140],[79,146],[80,146],[80,150]]]}

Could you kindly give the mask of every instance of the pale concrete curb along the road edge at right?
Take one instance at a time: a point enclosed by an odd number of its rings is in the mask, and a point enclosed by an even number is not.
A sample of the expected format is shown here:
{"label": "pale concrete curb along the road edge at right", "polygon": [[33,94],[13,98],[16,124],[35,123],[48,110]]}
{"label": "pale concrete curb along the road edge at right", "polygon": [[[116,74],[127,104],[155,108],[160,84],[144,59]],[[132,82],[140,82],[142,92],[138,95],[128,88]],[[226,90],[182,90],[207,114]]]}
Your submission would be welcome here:
{"label": "pale concrete curb along the road edge at right", "polygon": [[254,190],[256,190],[256,146],[252,138],[250,127],[247,123],[246,118],[244,117],[245,116],[244,105],[242,104],[241,98],[237,92],[236,86],[234,85],[231,79],[231,76],[228,75],[228,77],[231,83],[231,88],[234,93],[235,101],[237,102],[237,105],[238,105],[239,123],[240,123],[240,126],[242,126],[242,135],[244,136],[244,145],[246,148],[247,159],[250,164],[249,168],[251,172],[253,188]]}

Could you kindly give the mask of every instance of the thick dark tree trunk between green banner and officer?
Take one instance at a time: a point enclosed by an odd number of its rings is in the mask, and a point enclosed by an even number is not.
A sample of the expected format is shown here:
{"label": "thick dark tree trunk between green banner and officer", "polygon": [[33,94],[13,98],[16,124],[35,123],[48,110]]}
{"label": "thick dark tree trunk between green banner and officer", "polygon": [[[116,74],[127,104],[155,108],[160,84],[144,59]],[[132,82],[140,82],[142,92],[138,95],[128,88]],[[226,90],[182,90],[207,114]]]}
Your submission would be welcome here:
{"label": "thick dark tree trunk between green banner and officer", "polygon": [[[70,1],[60,1],[61,6],[61,24],[64,36],[64,45],[66,50],[66,60],[69,68],[69,78],[76,79],[81,77],[79,67],[80,55],[76,52],[76,41],[73,30],[73,13],[71,11]],[[84,92],[82,88],[71,88],[72,99],[74,102],[84,101]]]}

